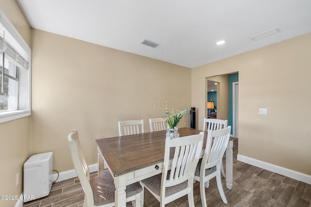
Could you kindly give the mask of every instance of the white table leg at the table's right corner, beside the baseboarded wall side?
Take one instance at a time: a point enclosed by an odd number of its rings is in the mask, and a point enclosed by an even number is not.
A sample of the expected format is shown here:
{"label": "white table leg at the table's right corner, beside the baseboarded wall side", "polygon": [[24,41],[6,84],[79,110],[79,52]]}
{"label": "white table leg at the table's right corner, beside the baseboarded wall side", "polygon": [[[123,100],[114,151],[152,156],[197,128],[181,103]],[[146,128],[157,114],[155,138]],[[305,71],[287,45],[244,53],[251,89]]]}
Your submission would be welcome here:
{"label": "white table leg at the table's right corner, beside the baseboarded wall side", "polygon": [[225,150],[225,181],[228,189],[232,189],[233,182],[233,140],[229,141]]}

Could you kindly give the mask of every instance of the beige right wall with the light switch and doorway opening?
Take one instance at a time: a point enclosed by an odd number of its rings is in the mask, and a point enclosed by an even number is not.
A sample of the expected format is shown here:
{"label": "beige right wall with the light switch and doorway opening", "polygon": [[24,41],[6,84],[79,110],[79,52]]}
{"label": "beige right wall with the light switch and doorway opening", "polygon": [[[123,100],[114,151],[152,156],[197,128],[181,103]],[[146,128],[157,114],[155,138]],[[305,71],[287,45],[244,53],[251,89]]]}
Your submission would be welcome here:
{"label": "beige right wall with the light switch and doorway opening", "polygon": [[238,71],[239,154],[311,175],[310,54],[311,33],[194,68],[192,105],[206,108],[206,77]]}

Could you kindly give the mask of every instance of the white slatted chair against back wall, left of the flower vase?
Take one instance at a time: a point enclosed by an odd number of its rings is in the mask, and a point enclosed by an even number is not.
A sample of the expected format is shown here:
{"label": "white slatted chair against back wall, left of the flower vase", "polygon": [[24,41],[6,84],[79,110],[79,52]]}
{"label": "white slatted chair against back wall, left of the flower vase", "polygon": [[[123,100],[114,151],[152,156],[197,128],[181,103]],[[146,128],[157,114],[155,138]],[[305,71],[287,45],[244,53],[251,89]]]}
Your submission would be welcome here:
{"label": "white slatted chair against back wall, left of the flower vase", "polygon": [[119,121],[119,136],[144,133],[144,120]]}

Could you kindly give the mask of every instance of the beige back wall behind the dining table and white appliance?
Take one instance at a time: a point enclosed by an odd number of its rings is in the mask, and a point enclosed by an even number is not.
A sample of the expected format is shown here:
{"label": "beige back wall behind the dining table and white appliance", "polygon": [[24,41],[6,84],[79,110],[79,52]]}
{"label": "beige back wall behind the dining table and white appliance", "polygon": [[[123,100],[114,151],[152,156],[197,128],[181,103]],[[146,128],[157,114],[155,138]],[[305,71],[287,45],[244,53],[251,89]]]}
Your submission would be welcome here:
{"label": "beige back wall behind the dining table and white appliance", "polygon": [[33,34],[30,152],[52,151],[59,172],[73,169],[72,129],[79,131],[87,163],[94,164],[95,139],[118,136],[119,120],[143,119],[147,132],[148,119],[164,115],[154,110],[159,99],[190,110],[190,68],[49,32]]}

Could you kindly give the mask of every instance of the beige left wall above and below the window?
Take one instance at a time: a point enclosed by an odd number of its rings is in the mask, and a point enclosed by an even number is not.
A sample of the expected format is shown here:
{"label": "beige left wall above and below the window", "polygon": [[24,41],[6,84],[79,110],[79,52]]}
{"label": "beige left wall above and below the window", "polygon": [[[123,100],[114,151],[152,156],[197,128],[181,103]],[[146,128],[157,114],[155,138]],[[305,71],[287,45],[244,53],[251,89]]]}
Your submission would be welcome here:
{"label": "beige left wall above and below the window", "polygon": [[[14,27],[31,44],[31,28],[15,0],[0,0],[0,8]],[[17,195],[23,191],[23,163],[29,156],[29,117],[0,123],[0,195]],[[19,173],[19,184],[16,175]],[[1,207],[12,207],[17,201],[0,200]]]}

